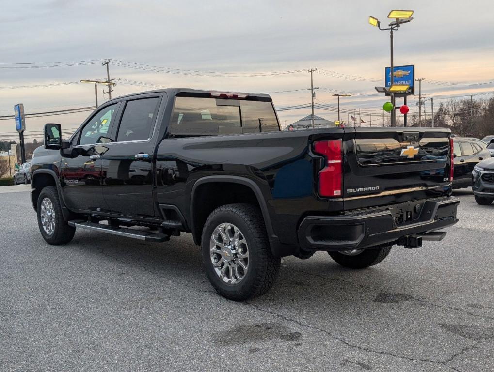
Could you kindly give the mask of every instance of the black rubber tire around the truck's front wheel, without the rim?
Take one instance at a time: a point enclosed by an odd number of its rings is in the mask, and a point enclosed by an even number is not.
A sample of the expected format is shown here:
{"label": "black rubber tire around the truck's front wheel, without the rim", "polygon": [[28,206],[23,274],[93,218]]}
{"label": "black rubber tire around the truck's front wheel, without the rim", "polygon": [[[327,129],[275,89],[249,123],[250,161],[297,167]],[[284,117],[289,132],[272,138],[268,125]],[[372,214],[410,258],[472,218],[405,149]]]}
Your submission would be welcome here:
{"label": "black rubber tire around the truck's front wheel, without the rim", "polygon": [[[48,198],[51,201],[55,216],[55,228],[50,234],[44,230],[43,224],[41,223],[41,204],[45,198]],[[70,226],[63,219],[62,206],[56,186],[46,186],[41,190],[40,196],[38,197],[36,214],[38,216],[38,227],[40,228],[41,236],[46,243],[53,245],[65,244],[70,242],[74,237],[76,228]]]}

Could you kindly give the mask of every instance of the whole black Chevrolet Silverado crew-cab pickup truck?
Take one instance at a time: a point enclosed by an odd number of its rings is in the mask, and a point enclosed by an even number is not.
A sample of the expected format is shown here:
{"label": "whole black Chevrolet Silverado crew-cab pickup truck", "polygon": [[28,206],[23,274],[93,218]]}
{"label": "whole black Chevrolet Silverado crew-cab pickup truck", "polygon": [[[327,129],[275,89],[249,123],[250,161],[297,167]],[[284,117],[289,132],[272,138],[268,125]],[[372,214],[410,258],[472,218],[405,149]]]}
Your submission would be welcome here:
{"label": "whole black Chevrolet Silverado crew-cab pickup truck", "polygon": [[[265,293],[284,256],[364,268],[457,222],[453,141],[440,128],[280,131],[264,94],[163,89],[119,97],[31,163],[41,235],[76,228],[150,242],[190,232],[234,300]],[[97,244],[97,243],[96,243]]]}

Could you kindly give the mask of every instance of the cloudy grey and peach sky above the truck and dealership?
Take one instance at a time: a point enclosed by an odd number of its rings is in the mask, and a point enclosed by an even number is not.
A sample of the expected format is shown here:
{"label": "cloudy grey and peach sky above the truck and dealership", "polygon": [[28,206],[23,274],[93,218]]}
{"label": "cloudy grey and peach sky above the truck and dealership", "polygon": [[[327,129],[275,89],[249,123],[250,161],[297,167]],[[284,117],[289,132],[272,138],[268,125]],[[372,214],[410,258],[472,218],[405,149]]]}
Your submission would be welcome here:
{"label": "cloudy grey and peach sky above the truck and dealership", "polygon": [[[389,65],[389,33],[369,25],[368,16],[386,24],[393,8],[415,11],[395,34],[395,65],[414,64],[416,77],[425,78],[423,93],[435,104],[453,95],[489,97],[494,83],[482,84],[494,81],[489,0],[17,0],[3,1],[0,13],[0,116],[20,102],[27,113],[93,105],[93,86],[76,82],[106,78],[105,59],[115,95],[154,87],[283,91],[272,93],[277,108],[309,103],[307,70],[318,68],[316,102],[335,106],[332,94],[347,93],[342,108],[377,114],[385,98],[373,87],[383,85]],[[292,73],[263,74],[271,72]],[[100,103],[107,99],[101,90]],[[279,116],[288,125],[309,113]],[[26,130],[38,135],[44,122],[60,122],[70,131],[88,114],[27,118]],[[0,120],[1,139],[13,132],[13,119]]]}

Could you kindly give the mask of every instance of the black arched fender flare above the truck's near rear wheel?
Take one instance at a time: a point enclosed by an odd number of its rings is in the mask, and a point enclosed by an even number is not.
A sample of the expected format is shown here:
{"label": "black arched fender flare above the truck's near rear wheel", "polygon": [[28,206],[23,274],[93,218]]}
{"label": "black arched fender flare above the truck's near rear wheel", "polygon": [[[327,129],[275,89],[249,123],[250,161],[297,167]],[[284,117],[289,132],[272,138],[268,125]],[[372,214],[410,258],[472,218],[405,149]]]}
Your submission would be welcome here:
{"label": "black arched fender flare above the truck's near rear wheel", "polygon": [[[269,216],[268,212],[268,206],[266,203],[266,200],[263,197],[262,191],[260,187],[252,180],[246,178],[246,177],[240,177],[240,176],[206,176],[202,177],[199,180],[196,181],[194,186],[192,186],[192,192],[191,192],[191,202],[190,202],[190,224],[189,226],[191,227],[191,231],[193,232],[194,235],[194,241],[196,241],[195,233],[194,233],[194,204],[195,204],[195,195],[196,195],[196,189],[198,186],[211,183],[211,182],[229,182],[229,183],[234,183],[234,184],[240,184],[249,187],[253,192],[254,195],[257,199],[257,202],[259,203],[259,207],[261,208],[261,213],[262,217],[264,219],[264,224],[266,225],[266,230],[268,232],[268,238],[271,241],[275,240],[278,241],[278,237],[276,236],[274,230],[273,230],[273,225],[271,223],[271,219]],[[196,241],[196,244],[199,240]]]}

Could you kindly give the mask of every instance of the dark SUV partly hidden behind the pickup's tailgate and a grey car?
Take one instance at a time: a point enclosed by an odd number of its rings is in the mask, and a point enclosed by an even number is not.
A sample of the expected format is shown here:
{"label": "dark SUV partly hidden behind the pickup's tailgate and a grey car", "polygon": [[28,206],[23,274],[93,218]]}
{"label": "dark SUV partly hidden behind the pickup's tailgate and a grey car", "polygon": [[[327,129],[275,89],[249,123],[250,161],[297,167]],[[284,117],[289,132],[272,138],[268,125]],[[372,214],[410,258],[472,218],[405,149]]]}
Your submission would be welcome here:
{"label": "dark SUV partly hidden behind the pickup's tailgate and a grey car", "polygon": [[453,188],[472,186],[472,171],[475,165],[491,158],[491,152],[471,138],[454,138]]}

